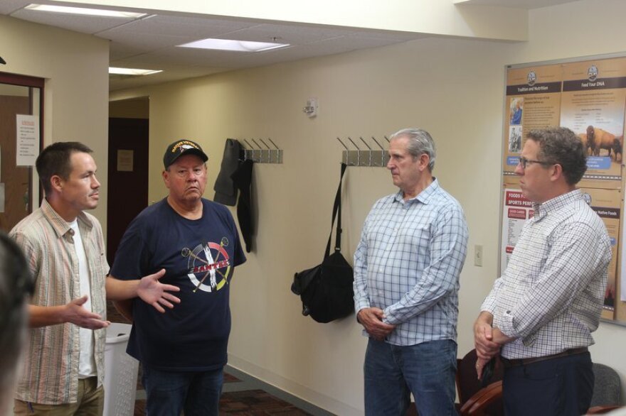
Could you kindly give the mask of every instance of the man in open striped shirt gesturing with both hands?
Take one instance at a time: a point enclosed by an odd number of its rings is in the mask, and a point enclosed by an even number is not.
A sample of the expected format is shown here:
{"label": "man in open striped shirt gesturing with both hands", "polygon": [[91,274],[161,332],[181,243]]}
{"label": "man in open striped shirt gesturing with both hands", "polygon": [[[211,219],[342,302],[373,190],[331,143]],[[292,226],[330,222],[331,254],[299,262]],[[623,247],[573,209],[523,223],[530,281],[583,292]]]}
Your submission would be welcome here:
{"label": "man in open striped shirt gesturing with both hands", "polygon": [[[35,279],[15,415],[102,415],[109,265],[100,223],[84,212],[100,195],[90,153],[77,142],[45,148],[36,167],[46,198],[10,233]],[[178,288],[161,285],[163,273],[128,281],[112,298],[171,305],[176,298],[164,290]]]}

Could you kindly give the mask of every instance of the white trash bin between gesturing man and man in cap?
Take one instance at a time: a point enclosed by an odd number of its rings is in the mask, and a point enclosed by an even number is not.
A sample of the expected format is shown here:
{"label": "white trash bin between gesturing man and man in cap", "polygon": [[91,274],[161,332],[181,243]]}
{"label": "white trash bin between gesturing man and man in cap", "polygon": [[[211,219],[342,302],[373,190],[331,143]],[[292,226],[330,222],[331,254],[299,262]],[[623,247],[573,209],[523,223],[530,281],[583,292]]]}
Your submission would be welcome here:
{"label": "white trash bin between gesturing man and man in cap", "polygon": [[132,416],[137,395],[139,361],[126,354],[130,324],[112,323],[105,344],[104,416]]}

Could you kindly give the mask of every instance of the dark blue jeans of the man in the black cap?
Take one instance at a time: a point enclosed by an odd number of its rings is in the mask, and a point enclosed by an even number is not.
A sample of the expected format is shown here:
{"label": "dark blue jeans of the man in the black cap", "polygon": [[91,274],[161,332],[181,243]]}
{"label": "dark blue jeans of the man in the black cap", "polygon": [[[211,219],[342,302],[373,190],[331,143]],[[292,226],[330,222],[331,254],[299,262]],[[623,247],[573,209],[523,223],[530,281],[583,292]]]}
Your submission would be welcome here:
{"label": "dark blue jeans of the man in the black cap", "polygon": [[175,372],[143,368],[147,416],[218,416],[223,368]]}

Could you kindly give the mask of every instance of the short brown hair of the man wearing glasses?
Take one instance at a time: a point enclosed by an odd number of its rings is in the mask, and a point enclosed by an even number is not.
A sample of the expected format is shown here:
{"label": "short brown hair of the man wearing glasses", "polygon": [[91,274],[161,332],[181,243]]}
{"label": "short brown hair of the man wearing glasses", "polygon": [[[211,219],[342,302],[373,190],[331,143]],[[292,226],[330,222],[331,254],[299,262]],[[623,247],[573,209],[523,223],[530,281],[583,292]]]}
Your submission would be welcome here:
{"label": "short brown hair of the man wearing glasses", "polygon": [[575,185],[587,170],[587,152],[580,138],[566,127],[531,130],[527,138],[539,145],[539,160],[561,165],[568,185]]}

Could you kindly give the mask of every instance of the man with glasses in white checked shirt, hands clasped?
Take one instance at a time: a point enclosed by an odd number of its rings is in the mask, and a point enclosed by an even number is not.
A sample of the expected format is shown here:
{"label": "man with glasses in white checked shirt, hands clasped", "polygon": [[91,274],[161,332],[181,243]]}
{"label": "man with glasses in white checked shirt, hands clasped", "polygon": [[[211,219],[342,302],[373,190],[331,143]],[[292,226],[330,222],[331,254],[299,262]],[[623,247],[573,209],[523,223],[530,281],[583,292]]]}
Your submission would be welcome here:
{"label": "man with glasses in white checked shirt, hands clasped", "polygon": [[502,356],[506,415],[583,415],[590,405],[587,347],[603,307],[611,246],[602,219],[575,187],[586,158],[568,128],[534,130],[515,170],[534,217],[474,324],[478,376]]}

